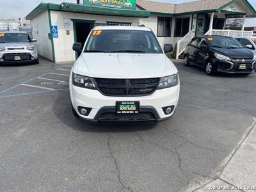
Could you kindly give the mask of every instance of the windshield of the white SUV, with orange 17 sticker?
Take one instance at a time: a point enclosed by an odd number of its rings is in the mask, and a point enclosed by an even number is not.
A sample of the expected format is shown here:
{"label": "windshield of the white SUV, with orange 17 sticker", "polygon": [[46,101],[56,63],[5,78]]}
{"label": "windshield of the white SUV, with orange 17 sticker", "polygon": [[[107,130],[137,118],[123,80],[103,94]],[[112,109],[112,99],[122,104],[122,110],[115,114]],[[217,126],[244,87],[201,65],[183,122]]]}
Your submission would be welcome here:
{"label": "windshield of the white SUV, with orange 17 sticker", "polygon": [[92,31],[84,52],[162,52],[152,31]]}

